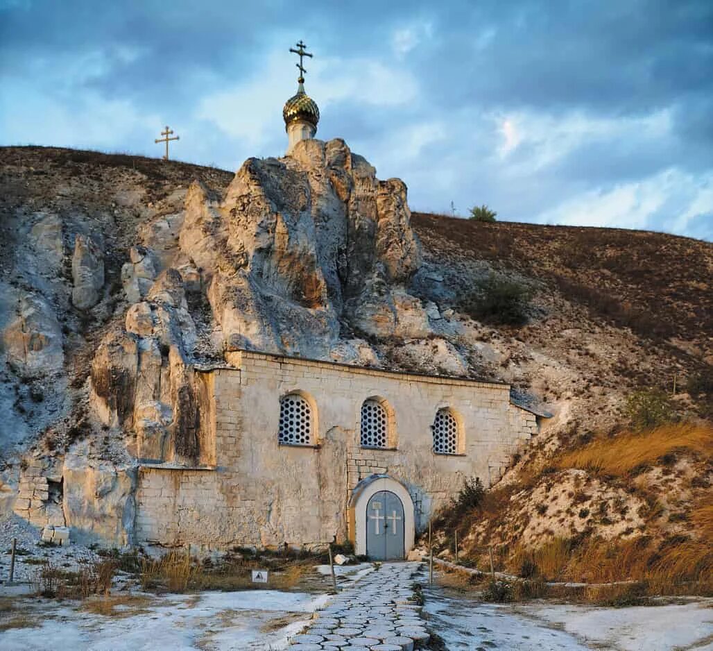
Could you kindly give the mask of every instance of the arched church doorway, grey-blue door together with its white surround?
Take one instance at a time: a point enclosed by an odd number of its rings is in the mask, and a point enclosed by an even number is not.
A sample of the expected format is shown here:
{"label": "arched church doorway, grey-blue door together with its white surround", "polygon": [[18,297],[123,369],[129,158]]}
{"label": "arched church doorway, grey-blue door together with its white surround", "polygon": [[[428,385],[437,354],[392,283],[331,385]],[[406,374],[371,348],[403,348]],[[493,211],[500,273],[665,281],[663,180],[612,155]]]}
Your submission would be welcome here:
{"label": "arched church doorway, grey-blue door together with its white surround", "polygon": [[406,487],[388,475],[361,480],[349,498],[347,515],[349,540],[357,555],[399,560],[414,547],[414,502]]}

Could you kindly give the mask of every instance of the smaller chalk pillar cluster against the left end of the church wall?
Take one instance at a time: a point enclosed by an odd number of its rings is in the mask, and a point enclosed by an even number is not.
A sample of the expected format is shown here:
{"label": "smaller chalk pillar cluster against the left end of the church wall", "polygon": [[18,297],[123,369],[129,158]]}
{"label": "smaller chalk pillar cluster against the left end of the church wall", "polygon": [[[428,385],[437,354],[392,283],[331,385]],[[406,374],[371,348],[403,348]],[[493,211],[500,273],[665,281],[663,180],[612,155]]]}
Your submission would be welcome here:
{"label": "smaller chalk pillar cluster against the left end of the church wall", "polygon": [[[102,341],[91,368],[92,404],[101,421],[138,435],[140,458],[193,462],[198,453],[193,368],[195,326],[178,271],[162,273],[146,301],[129,308],[125,331]],[[167,453],[168,438],[173,437]],[[168,457],[168,458],[167,458]]]}

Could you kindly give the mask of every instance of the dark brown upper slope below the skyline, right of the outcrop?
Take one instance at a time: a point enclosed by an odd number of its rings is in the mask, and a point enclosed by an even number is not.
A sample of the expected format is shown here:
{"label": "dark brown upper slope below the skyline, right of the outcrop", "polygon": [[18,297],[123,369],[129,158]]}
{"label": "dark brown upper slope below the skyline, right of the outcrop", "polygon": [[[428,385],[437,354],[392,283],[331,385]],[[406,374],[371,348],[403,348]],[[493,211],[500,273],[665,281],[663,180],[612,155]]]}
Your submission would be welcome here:
{"label": "dark brown upper slope below the skyline, right of the outcrop", "polygon": [[635,333],[682,338],[707,355],[713,334],[713,245],[621,228],[412,220],[430,256],[471,258],[539,278],[595,316]]}

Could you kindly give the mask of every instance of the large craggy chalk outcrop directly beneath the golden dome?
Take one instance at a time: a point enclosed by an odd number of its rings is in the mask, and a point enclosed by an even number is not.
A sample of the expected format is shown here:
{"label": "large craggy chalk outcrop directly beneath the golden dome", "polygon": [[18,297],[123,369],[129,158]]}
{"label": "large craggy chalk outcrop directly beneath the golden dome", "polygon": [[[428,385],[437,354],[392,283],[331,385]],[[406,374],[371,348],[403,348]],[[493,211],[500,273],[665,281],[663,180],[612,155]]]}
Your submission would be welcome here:
{"label": "large craggy chalk outcrop directly beneath the golden dome", "polygon": [[222,202],[194,183],[180,248],[201,270],[225,350],[329,358],[340,318],[423,335],[419,301],[399,293],[421,263],[409,217],[404,183],[378,181],[342,140],[307,140],[287,158],[245,161]]}

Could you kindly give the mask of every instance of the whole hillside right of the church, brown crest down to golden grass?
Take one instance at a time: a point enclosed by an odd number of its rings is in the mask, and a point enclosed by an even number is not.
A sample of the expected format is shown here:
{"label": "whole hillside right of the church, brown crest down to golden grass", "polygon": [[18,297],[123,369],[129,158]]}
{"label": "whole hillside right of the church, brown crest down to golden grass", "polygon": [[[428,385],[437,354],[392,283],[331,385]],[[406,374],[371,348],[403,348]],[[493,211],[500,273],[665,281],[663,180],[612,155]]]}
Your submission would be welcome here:
{"label": "whole hillside right of the church, brown crest down to golden grass", "polygon": [[[555,413],[494,490],[465,490],[441,513],[439,555],[453,560],[457,532],[462,563],[487,572],[492,549],[496,570],[533,581],[525,593],[545,594],[542,580],[634,580],[619,588],[632,602],[709,593],[711,245],[424,213],[413,223],[426,261],[458,288],[454,301],[483,266],[537,283],[538,317],[504,329],[527,351],[525,364],[519,358],[501,375]],[[540,368],[525,375],[533,358]],[[662,400],[662,421],[698,424],[632,430],[630,413],[610,398],[647,393]]]}

